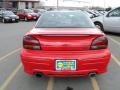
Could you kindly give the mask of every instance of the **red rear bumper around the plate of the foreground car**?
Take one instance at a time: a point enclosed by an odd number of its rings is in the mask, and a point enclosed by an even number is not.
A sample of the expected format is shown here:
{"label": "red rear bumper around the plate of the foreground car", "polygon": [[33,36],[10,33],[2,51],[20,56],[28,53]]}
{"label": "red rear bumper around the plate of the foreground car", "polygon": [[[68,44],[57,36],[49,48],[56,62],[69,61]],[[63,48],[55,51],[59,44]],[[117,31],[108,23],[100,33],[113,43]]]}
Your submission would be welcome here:
{"label": "red rear bumper around the plate of the foreground car", "polygon": [[[21,60],[25,72],[43,73],[47,76],[85,76],[90,72],[97,74],[107,71],[110,52],[106,50],[89,51],[31,51],[23,49]],[[56,71],[56,59],[76,59],[76,71]]]}

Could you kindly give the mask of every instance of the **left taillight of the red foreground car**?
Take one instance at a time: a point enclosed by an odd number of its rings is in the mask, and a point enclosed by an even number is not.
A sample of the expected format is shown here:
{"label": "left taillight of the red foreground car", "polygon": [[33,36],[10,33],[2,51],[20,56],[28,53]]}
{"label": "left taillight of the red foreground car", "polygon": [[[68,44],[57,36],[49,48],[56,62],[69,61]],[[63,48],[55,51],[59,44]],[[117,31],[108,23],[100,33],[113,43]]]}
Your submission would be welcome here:
{"label": "left taillight of the red foreground car", "polygon": [[32,50],[40,50],[40,43],[39,40],[32,36],[24,36],[23,38],[23,47],[25,49],[32,49]]}

